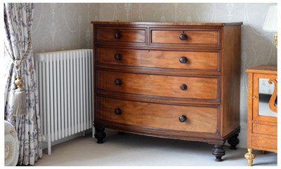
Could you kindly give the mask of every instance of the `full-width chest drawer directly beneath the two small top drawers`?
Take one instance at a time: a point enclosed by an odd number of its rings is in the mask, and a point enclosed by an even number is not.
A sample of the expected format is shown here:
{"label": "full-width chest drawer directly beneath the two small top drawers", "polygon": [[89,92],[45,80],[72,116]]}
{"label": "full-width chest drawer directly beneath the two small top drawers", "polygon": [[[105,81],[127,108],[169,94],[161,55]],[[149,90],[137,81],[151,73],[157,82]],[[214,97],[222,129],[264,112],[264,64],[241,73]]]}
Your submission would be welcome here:
{"label": "full-width chest drawer directly beneath the two small top drawers", "polygon": [[169,69],[219,70],[218,51],[191,52],[97,48],[98,63]]}

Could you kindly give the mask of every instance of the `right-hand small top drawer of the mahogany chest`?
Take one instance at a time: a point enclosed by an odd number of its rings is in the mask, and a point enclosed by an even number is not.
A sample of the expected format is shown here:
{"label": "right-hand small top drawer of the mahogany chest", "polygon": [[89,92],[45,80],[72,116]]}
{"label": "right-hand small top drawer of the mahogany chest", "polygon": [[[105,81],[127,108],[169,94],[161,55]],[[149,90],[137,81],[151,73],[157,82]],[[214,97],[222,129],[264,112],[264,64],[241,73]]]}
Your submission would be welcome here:
{"label": "right-hand small top drawer of the mahogany chest", "polygon": [[152,29],[151,43],[220,46],[220,29]]}

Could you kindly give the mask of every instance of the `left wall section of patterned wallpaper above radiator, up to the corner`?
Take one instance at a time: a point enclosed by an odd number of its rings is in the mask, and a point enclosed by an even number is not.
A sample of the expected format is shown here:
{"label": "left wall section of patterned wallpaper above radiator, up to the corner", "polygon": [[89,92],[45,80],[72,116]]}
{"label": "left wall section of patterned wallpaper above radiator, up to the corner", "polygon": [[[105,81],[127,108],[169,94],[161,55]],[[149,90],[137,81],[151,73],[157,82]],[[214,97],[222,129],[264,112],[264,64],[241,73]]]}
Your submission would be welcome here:
{"label": "left wall section of patterned wallpaper above radiator, up to the corner", "polygon": [[35,3],[32,26],[34,53],[92,48],[91,20],[99,4]]}

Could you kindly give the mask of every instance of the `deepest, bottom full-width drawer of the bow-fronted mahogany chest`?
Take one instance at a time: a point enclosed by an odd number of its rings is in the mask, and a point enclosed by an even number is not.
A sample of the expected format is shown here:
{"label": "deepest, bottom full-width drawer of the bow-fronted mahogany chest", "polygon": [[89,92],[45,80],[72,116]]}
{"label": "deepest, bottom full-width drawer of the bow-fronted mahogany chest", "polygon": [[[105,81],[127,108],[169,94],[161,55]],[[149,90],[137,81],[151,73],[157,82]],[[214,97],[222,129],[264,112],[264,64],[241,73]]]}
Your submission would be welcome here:
{"label": "deepest, bottom full-width drawer of the bow-fronted mahogany chest", "polygon": [[[145,128],[216,133],[217,107],[185,107],[97,97],[98,119]],[[186,121],[179,121],[180,116]]]}

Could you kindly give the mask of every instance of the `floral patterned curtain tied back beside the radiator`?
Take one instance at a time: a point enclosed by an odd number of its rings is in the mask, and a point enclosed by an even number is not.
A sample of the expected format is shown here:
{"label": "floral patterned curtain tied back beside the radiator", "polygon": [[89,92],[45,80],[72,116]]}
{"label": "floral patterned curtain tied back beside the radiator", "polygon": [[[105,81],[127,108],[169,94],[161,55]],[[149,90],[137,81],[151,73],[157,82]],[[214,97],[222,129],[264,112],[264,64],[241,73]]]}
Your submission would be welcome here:
{"label": "floral patterned curtain tied back beside the radiator", "polygon": [[[39,118],[38,90],[31,47],[31,29],[34,4],[4,4],[4,56],[6,67],[5,117],[15,126],[19,140],[18,165],[34,165],[42,157],[42,140]],[[20,62],[22,88],[26,91],[27,112],[15,116],[15,66]],[[12,98],[12,99],[11,99]]]}

